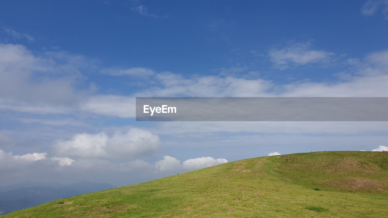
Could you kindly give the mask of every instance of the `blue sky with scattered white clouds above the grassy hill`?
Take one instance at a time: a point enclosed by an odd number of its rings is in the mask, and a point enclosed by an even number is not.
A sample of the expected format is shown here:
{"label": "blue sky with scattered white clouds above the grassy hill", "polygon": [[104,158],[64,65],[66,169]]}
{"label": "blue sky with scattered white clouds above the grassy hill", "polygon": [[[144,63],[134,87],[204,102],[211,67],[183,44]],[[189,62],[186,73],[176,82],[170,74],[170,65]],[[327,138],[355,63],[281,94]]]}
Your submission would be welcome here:
{"label": "blue sky with scattered white clouds above the grassy hill", "polygon": [[2,2],[0,185],[125,185],[275,151],[385,149],[385,122],[139,123],[133,104],[388,97],[387,27],[385,0]]}

